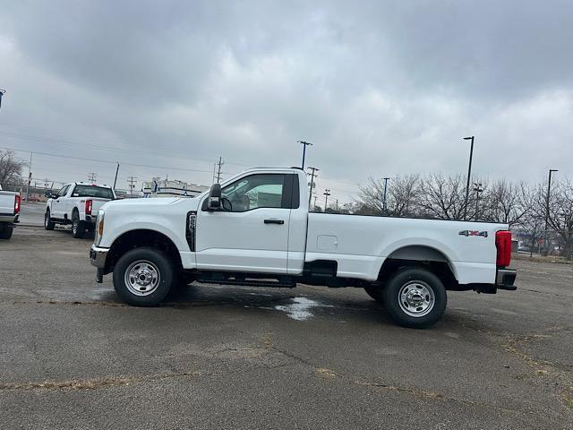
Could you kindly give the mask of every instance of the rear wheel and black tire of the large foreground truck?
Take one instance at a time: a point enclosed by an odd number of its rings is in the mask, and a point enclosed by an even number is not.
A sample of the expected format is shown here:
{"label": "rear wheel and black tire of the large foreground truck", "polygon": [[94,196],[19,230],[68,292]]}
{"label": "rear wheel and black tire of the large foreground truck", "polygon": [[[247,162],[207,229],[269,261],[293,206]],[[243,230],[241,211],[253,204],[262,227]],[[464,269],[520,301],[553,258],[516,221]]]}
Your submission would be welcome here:
{"label": "rear wheel and black tire of the large foreground truck", "polygon": [[418,267],[398,270],[388,281],[384,296],[389,316],[412,329],[432,326],[444,314],[448,303],[441,280]]}

